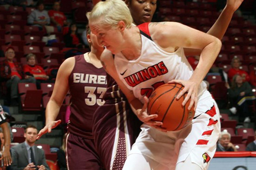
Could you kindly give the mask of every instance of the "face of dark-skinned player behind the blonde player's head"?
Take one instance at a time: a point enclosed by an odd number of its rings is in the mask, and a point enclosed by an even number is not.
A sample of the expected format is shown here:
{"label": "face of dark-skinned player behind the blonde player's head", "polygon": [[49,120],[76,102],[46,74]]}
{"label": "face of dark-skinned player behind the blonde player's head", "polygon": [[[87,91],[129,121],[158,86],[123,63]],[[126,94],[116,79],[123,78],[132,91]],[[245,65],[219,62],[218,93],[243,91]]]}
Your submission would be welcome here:
{"label": "face of dark-skinned player behind the blonde player's head", "polygon": [[157,0],[127,0],[130,13],[136,25],[151,22],[156,11]]}

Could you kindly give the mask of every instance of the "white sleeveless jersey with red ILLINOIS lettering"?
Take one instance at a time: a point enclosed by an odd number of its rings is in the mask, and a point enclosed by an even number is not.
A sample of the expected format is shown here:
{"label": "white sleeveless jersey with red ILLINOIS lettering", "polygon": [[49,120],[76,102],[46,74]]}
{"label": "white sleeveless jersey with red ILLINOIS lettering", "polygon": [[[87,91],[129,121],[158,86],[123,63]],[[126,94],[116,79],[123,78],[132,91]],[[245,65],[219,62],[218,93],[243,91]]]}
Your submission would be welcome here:
{"label": "white sleeveless jersey with red ILLINOIS lettering", "polygon": [[[136,98],[144,102],[143,96],[149,97],[158,86],[171,80],[189,80],[193,74],[183,48],[174,53],[163,51],[154,41],[141,31],[141,55],[136,60],[127,60],[122,53],[115,55],[115,67],[120,79]],[[206,91],[202,82],[198,97]]]}

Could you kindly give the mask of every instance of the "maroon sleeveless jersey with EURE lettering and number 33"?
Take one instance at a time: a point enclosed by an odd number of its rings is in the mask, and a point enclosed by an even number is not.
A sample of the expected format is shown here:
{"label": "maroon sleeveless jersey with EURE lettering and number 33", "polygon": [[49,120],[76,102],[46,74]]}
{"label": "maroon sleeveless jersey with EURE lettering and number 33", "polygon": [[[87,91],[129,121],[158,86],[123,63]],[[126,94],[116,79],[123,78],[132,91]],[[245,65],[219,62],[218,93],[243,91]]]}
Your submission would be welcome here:
{"label": "maroon sleeveless jersey with EURE lettering and number 33", "polygon": [[75,66],[69,76],[70,118],[68,130],[84,138],[92,137],[92,117],[104,104],[106,72],[86,62],[84,55],[75,56]]}

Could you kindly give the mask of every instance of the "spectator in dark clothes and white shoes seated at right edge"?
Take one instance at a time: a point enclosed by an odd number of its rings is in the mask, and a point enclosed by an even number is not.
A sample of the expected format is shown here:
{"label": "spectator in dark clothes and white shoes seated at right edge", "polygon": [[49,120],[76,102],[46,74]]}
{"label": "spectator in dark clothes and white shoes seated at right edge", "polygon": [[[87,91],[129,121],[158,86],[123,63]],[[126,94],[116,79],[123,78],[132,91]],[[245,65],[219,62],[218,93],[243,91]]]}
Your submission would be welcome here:
{"label": "spectator in dark clothes and white shoes seated at right edge", "polygon": [[252,93],[252,87],[249,83],[243,82],[243,78],[236,74],[233,77],[232,86],[226,83],[228,89],[228,96],[230,98],[231,105],[230,108],[232,113],[236,113],[236,108],[239,113],[243,113],[242,117],[245,117],[244,122],[250,122],[249,105],[252,105],[252,100],[255,100],[255,96]]}

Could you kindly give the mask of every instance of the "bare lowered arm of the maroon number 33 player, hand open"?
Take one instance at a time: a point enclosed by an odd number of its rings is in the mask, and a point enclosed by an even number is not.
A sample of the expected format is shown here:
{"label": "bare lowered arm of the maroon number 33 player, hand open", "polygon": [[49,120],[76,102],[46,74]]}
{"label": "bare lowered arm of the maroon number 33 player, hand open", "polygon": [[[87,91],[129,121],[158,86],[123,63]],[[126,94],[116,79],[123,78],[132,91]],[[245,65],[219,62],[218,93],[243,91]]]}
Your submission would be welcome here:
{"label": "bare lowered arm of the maroon number 33 player, hand open", "polygon": [[55,121],[55,119],[59,115],[59,110],[63,100],[65,99],[67,91],[69,90],[69,76],[74,65],[74,57],[66,59],[61,64],[54,84],[54,89],[52,91],[52,96],[46,106],[46,125],[38,133],[37,139],[39,139],[43,134],[50,133],[53,128],[61,123],[61,120]]}

